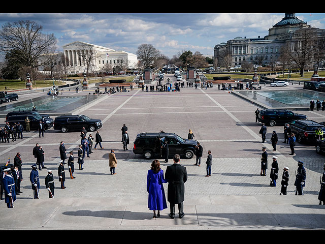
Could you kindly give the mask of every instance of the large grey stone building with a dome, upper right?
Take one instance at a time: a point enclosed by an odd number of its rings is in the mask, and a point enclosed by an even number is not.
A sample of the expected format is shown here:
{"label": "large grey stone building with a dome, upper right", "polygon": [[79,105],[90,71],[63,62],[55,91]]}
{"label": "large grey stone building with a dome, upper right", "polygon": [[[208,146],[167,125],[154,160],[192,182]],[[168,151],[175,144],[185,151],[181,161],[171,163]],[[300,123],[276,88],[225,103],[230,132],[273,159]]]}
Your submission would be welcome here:
{"label": "large grey stone building with a dome, upper right", "polygon": [[[299,45],[299,42],[295,40],[295,31],[310,27],[295,15],[294,13],[284,14],[284,18],[269,29],[268,36],[257,38],[236,37],[226,43],[215,45],[214,66],[224,67],[223,57],[225,53],[231,54],[232,67],[241,65],[244,60],[252,64],[262,60],[262,65],[276,62],[281,55],[281,46],[289,43],[293,49],[295,45]],[[322,29],[317,30],[325,31]]]}

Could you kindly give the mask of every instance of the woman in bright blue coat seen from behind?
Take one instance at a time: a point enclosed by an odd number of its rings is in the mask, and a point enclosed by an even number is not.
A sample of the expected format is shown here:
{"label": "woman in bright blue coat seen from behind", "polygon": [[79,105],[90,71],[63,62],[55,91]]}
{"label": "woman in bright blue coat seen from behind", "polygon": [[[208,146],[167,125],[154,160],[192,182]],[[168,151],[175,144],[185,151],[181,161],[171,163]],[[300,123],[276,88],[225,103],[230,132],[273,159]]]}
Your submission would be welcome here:
{"label": "woman in bright blue coat seen from behind", "polygon": [[[167,208],[163,183],[167,183],[164,171],[160,169],[159,161],[154,160],[147,175],[148,208],[153,210],[153,218],[160,217],[159,211]],[[158,210],[157,216],[156,210]]]}

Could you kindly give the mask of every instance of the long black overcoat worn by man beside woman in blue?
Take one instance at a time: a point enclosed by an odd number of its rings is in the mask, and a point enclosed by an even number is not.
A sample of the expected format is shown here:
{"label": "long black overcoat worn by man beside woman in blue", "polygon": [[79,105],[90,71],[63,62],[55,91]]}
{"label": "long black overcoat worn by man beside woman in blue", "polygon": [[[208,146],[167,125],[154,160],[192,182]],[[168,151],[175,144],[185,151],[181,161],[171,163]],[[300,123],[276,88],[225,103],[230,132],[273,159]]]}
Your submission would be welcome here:
{"label": "long black overcoat worn by man beside woman in blue", "polygon": [[168,181],[167,200],[175,204],[183,202],[185,195],[184,183],[187,180],[186,168],[180,164],[168,166],[165,179]]}

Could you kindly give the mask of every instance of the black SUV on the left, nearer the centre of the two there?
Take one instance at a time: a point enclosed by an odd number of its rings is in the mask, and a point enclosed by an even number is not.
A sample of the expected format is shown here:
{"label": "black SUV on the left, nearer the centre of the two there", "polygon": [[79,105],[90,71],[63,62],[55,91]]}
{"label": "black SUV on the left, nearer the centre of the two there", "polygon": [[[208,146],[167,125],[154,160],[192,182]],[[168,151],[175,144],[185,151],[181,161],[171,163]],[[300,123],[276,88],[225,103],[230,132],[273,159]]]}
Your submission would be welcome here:
{"label": "black SUV on the left, nearer the centre of the two there", "polygon": [[85,115],[62,115],[54,120],[54,130],[61,132],[78,130],[84,127],[87,131],[95,131],[102,128],[102,120],[89,118]]}

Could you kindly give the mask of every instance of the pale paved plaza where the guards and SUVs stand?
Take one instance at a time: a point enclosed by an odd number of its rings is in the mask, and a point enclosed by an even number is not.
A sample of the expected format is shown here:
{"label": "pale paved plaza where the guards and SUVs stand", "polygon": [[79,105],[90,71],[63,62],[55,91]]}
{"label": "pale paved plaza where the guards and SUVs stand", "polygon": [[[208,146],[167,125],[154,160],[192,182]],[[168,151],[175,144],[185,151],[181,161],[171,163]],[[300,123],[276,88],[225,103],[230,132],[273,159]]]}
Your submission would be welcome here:
{"label": "pale paved plaza where the guards and SUVs stand", "polygon": [[[167,77],[166,77],[167,78]],[[170,76],[172,82],[174,76]],[[173,82],[174,83],[174,82]],[[186,86],[186,82],[185,82]],[[87,95],[95,87],[79,92]],[[262,87],[262,89],[283,89]],[[294,85],[286,89],[300,89]],[[76,95],[64,91],[64,95]],[[47,96],[45,92],[21,95],[20,101],[30,97]],[[59,95],[60,96],[60,95]],[[143,92],[134,89],[127,93],[100,95],[89,106],[78,108],[78,114],[99,118],[103,122],[100,134],[101,149],[93,150],[85,157],[84,170],[75,163],[75,179],[68,176],[66,165],[66,189],[60,189],[57,176],[59,144],[64,141],[67,151],[80,144],[80,132],[61,133],[53,128],[44,138],[38,132],[24,133],[23,139],[0,143],[0,160],[11,162],[21,153],[23,162],[20,195],[14,209],[7,209],[0,201],[2,229],[324,229],[325,207],[318,205],[319,176],[323,172],[324,155],[316,154],[313,145],[297,143],[296,155],[291,156],[288,144],[283,141],[283,126],[268,127],[267,141],[262,143],[258,134],[261,123],[255,123],[256,105],[218,90],[181,88],[180,92]],[[299,112],[299,111],[298,111]],[[309,119],[325,121],[325,112],[300,111]],[[54,119],[54,116],[51,116]],[[129,150],[123,150],[121,128],[125,124],[130,136]],[[3,118],[1,126],[4,125]],[[201,167],[193,166],[196,159],[181,159],[187,169],[185,183],[185,217],[171,220],[168,209],[161,211],[159,219],[152,219],[147,207],[147,171],[152,160],[145,160],[132,151],[133,140],[141,132],[176,133],[187,138],[192,129],[196,140],[203,146]],[[272,152],[270,138],[275,130],[279,136],[277,151]],[[90,132],[87,133],[87,135]],[[95,132],[91,133],[93,136]],[[46,169],[40,174],[40,199],[32,199],[29,181],[30,166],[36,162],[32,148],[43,146],[47,169],[53,170],[55,180],[54,199],[48,199],[44,180]],[[269,153],[267,176],[260,175],[262,146]],[[114,149],[118,161],[116,175],[110,174],[108,154]],[[205,177],[206,152],[212,151],[212,176]],[[272,156],[278,157],[279,179],[276,187],[270,187]],[[161,169],[168,165],[159,159]],[[297,162],[305,162],[306,187],[304,196],[295,196],[295,171]],[[282,169],[289,167],[287,196],[279,196]],[[167,186],[165,193],[167,196]],[[15,217],[15,218],[13,218]]]}

